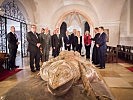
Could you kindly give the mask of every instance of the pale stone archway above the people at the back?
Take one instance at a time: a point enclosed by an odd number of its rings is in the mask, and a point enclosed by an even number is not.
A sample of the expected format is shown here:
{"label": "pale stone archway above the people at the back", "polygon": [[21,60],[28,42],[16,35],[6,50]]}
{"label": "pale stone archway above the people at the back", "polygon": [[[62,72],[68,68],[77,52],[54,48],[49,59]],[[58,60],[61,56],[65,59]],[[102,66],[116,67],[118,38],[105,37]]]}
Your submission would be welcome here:
{"label": "pale stone archway above the people at the back", "polygon": [[[57,27],[59,28],[65,17],[72,12],[77,12],[86,19],[84,22],[88,22],[88,24],[90,25],[90,33],[92,34],[92,36],[94,36],[93,29],[94,27],[99,26],[99,19],[97,13],[93,9],[93,7],[88,10],[85,6],[81,5],[69,5],[56,10],[53,13],[51,29],[55,29]],[[84,25],[84,23],[82,24]],[[81,29],[83,30],[84,27],[81,27]],[[84,32],[84,30],[82,32]]]}

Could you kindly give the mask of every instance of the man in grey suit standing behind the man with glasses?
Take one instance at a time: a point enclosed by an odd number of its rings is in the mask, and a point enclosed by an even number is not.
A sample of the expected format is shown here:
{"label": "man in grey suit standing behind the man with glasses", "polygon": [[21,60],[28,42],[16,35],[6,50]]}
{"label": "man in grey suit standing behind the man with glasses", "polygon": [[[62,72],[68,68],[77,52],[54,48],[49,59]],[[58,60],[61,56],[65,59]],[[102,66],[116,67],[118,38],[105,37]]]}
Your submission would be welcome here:
{"label": "man in grey suit standing behind the man with glasses", "polygon": [[48,27],[45,28],[45,33],[40,34],[40,42],[42,47],[42,62],[48,61],[49,51],[51,48],[51,36]]}

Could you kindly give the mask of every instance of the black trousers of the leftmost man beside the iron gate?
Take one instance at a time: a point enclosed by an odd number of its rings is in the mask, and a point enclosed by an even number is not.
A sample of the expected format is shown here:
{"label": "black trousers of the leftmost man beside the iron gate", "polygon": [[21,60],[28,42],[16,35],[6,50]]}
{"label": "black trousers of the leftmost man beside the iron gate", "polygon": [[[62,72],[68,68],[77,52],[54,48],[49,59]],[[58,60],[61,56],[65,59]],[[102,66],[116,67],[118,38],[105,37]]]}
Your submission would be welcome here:
{"label": "black trousers of the leftmost man beside the iron gate", "polygon": [[9,48],[9,69],[15,68],[15,59],[16,59],[17,49]]}

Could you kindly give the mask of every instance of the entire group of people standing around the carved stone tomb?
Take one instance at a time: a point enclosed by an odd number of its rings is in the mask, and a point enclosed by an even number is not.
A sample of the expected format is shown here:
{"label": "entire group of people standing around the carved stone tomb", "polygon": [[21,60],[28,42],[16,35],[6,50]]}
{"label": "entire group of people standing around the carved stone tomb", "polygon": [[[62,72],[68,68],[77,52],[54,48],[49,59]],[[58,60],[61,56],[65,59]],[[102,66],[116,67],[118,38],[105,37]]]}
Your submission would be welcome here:
{"label": "entire group of people standing around the carved stone tomb", "polygon": [[[28,51],[30,53],[30,69],[32,72],[40,70],[40,59],[42,62],[49,60],[49,52],[52,50],[52,56],[57,57],[62,50],[63,42],[65,50],[78,51],[81,54],[82,45],[84,43],[86,49],[86,59],[90,59],[90,48],[92,41],[93,47],[92,61],[94,64],[99,64],[99,67],[105,68],[105,53],[106,53],[106,33],[103,27],[94,29],[95,37],[92,38],[89,31],[85,31],[84,38],[80,31],[73,29],[70,34],[66,31],[65,36],[61,36],[59,28],[56,28],[53,35],[50,34],[48,27],[41,29],[41,33],[37,33],[36,25],[31,25],[31,31],[27,33]],[[84,39],[82,41],[82,39]],[[9,67],[16,68],[15,58],[18,48],[18,39],[15,34],[15,27],[11,27],[11,32],[7,35],[9,48]],[[36,68],[36,69],[35,69]]]}

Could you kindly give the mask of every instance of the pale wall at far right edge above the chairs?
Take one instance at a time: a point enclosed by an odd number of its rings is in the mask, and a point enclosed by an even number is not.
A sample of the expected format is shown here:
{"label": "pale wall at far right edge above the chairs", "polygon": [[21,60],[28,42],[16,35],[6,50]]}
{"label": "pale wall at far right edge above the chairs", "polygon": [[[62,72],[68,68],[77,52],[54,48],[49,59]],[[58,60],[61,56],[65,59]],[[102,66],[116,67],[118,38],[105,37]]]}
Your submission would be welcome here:
{"label": "pale wall at far right edge above the chairs", "polygon": [[120,17],[121,45],[133,46],[133,1],[126,0]]}

